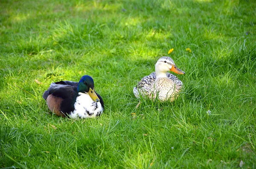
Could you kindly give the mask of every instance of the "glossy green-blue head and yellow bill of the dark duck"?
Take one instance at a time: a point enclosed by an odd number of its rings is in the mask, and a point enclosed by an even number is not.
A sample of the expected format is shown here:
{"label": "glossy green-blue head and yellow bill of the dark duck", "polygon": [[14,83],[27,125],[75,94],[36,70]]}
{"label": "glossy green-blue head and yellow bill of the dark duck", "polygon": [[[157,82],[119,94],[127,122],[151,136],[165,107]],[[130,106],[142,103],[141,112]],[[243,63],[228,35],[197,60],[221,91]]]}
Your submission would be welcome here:
{"label": "glossy green-blue head and yellow bill of the dark duck", "polygon": [[93,78],[88,75],[84,75],[79,80],[77,92],[88,93],[93,101],[99,101],[99,97],[96,95],[96,92],[94,91]]}

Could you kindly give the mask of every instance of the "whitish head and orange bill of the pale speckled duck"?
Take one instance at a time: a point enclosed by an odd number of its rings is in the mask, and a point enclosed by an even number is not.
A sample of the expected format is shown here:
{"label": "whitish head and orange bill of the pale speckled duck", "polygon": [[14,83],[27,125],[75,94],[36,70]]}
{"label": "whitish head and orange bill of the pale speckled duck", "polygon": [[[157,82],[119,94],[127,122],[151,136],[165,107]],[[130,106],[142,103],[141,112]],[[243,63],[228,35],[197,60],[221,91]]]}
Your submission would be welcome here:
{"label": "whitish head and orange bill of the pale speckled duck", "polygon": [[156,74],[166,74],[168,71],[175,72],[177,74],[185,74],[182,70],[180,70],[174,63],[171,57],[160,57],[157,60],[156,66]]}

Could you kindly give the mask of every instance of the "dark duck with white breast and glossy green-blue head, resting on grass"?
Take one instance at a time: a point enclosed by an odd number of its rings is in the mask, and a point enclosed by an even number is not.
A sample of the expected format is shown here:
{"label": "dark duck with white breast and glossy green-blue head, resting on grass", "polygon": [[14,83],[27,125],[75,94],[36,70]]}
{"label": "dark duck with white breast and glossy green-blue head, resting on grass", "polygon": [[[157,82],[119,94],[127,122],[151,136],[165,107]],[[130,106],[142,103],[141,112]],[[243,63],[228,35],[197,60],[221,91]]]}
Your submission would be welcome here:
{"label": "dark duck with white breast and glossy green-blue head, resting on grass", "polygon": [[51,83],[43,94],[51,112],[70,118],[96,117],[102,114],[102,97],[94,90],[93,78],[84,75],[79,82]]}

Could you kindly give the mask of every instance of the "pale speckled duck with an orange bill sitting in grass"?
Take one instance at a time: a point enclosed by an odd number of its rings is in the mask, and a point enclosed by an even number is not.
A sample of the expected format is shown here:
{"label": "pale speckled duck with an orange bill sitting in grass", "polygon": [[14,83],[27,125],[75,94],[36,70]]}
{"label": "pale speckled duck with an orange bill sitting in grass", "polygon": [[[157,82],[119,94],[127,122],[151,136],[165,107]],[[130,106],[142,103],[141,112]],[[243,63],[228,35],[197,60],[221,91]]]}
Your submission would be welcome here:
{"label": "pale speckled duck with an orange bill sitting in grass", "polygon": [[[153,100],[158,98],[161,101],[174,101],[183,83],[173,74],[185,74],[177,68],[171,57],[160,57],[155,65],[155,71],[148,76],[143,77],[140,82],[134,87],[133,92],[135,97],[140,98],[147,96]],[[137,106],[140,105],[140,102]]]}

